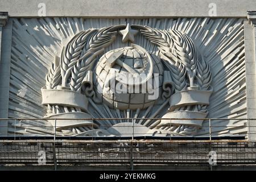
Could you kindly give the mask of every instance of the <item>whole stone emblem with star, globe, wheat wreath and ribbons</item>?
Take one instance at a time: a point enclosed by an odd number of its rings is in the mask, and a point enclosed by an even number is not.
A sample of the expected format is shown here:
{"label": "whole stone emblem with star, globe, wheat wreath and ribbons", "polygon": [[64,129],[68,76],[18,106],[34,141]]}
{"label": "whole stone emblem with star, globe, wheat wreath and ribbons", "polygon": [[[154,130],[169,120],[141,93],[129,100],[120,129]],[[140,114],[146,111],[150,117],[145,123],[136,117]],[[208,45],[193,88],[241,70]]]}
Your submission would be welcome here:
{"label": "whole stone emblem with star, globe, wheat wreath and ribbons", "polygon": [[[138,34],[159,51],[135,44]],[[129,46],[105,51],[118,36]],[[56,129],[63,134],[127,136],[131,121],[121,118],[135,118],[138,136],[193,135],[203,121],[177,119],[170,125],[168,119],[143,118],[206,118],[211,82],[210,67],[189,36],[127,24],[76,34],[55,56],[42,97],[45,117],[59,118]],[[120,119],[97,119],[105,112]]]}

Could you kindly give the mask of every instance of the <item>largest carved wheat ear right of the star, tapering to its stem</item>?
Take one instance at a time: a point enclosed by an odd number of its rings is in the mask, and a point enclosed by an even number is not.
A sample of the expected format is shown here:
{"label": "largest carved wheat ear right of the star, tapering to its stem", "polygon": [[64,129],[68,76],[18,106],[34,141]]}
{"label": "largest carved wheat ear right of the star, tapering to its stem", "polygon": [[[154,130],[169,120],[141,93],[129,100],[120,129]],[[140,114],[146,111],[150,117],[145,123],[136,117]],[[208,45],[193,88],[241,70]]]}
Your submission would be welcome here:
{"label": "largest carved wheat ear right of the star, tapering to its stem", "polygon": [[141,32],[158,46],[160,55],[164,59],[170,61],[171,64],[179,61],[185,65],[190,86],[193,86],[197,70],[197,52],[191,38],[177,30],[161,31],[145,27],[145,30]]}

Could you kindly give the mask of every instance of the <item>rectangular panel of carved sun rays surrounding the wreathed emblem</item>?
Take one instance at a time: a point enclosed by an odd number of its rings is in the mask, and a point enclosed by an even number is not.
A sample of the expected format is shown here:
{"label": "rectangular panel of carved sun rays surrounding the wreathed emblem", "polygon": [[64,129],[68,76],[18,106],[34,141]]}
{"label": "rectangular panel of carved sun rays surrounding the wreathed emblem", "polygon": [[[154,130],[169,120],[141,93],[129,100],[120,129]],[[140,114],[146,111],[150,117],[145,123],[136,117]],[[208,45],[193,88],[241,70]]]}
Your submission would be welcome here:
{"label": "rectangular panel of carved sun rays surrounding the wreathed emblem", "polygon": [[[246,117],[245,57],[243,19],[82,19],[82,18],[13,18],[13,42],[10,75],[10,118],[40,118],[46,115],[40,89],[55,55],[77,32],[116,24],[141,24],[162,30],[175,29],[192,38],[212,71],[213,93],[208,118]],[[141,34],[137,35],[141,39]],[[138,43],[138,42],[136,42]],[[138,43],[147,51],[157,47],[149,41]],[[128,46],[117,38],[106,52]],[[122,114],[125,117],[125,114]],[[135,115],[135,113],[133,113]],[[109,115],[106,115],[109,116]],[[111,115],[110,115],[111,117]],[[41,121],[40,121],[41,122]],[[245,134],[246,121],[213,121],[213,134]],[[38,122],[28,122],[38,126]],[[40,125],[48,125],[42,121]],[[13,127],[11,123],[10,127]],[[232,127],[229,127],[232,126]],[[44,132],[42,132],[43,134]],[[209,122],[203,123],[199,135],[209,134]]]}

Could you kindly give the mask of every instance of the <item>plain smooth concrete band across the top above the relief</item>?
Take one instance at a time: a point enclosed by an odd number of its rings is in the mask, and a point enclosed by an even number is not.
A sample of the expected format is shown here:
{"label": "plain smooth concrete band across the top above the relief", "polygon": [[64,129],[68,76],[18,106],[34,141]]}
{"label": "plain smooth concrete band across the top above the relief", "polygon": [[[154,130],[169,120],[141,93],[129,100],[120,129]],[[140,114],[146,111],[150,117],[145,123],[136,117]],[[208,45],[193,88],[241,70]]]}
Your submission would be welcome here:
{"label": "plain smooth concrete band across the top above the relief", "polygon": [[[211,15],[213,9],[216,14]],[[45,10],[45,11],[44,11]],[[1,0],[10,17],[69,16],[82,18],[246,18],[255,0]]]}

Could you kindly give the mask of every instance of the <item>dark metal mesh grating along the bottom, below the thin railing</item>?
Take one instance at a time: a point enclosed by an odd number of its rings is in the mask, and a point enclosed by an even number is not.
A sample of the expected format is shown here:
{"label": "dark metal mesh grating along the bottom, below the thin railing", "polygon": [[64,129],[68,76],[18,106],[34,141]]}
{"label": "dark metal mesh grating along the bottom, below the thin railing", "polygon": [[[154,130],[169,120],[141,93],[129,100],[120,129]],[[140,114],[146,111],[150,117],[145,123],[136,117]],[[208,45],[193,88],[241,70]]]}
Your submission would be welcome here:
{"label": "dark metal mesh grating along the bottom, below the thin railing", "polygon": [[256,164],[256,143],[156,140],[0,140],[0,164]]}

